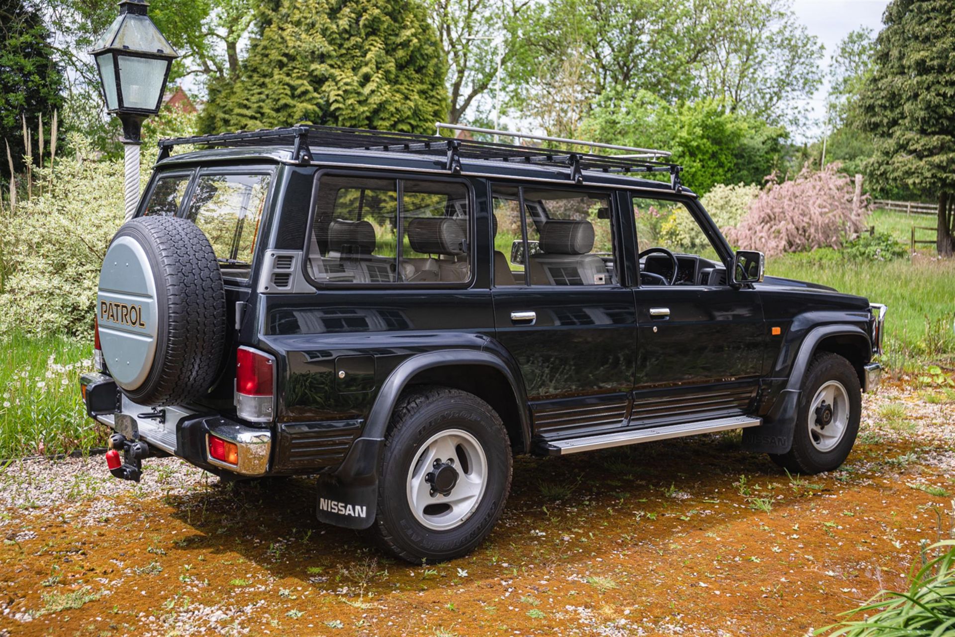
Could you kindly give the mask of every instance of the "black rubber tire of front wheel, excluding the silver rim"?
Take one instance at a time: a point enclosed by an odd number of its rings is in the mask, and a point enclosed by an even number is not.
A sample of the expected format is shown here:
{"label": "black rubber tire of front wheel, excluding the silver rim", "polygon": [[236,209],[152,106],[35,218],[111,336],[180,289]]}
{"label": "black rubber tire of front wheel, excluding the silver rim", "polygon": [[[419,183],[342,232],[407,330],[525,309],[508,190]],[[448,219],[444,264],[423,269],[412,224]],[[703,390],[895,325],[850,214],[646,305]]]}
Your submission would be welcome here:
{"label": "black rubber tire of front wheel, excluding the silver rim", "polygon": [[[829,381],[838,381],[849,398],[848,422],[838,443],[827,451],[820,451],[813,443],[809,428],[810,409],[819,388]],[[852,364],[838,354],[823,351],[818,353],[802,378],[799,394],[799,409],[796,413],[796,429],[793,446],[786,454],[770,454],[773,461],[790,473],[813,475],[833,471],[845,461],[852,451],[859,434],[859,419],[862,410],[862,393],[859,374]]]}

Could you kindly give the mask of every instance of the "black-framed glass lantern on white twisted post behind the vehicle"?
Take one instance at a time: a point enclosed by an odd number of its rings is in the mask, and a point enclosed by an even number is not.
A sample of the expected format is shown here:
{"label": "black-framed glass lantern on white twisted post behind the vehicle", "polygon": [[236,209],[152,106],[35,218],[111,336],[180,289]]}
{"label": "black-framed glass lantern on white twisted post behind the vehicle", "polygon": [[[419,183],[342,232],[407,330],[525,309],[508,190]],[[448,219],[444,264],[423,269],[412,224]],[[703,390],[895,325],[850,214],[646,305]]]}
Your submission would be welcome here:
{"label": "black-framed glass lantern on white twisted post behind the vehicle", "polygon": [[147,15],[145,0],[121,0],[119,15],[90,53],[96,60],[106,111],[122,122],[126,221],[139,203],[142,122],[159,113],[169,69],[179,53]]}

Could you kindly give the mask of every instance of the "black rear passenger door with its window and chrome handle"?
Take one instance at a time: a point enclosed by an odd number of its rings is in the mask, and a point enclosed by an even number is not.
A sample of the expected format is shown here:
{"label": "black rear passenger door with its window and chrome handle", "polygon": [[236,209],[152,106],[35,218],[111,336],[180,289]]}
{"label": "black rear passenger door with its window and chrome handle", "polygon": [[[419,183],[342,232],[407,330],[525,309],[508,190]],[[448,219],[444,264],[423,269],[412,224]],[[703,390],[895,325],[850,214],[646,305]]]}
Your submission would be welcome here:
{"label": "black rear passenger door with its window and chrome handle", "polygon": [[492,201],[495,325],[520,367],[535,433],[619,427],[636,323],[633,294],[618,276],[613,193],[494,184]]}

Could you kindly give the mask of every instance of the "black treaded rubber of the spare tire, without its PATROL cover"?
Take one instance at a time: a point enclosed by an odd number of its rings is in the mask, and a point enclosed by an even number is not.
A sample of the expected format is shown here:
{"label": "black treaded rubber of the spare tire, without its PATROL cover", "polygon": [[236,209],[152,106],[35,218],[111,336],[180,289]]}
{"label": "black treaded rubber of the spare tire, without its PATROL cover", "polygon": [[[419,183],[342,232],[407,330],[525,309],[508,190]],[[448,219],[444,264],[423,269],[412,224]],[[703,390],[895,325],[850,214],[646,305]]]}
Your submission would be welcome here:
{"label": "black treaded rubber of the spare tire, without its PATROL cover", "polygon": [[[179,405],[207,393],[223,361],[225,288],[216,254],[195,223],[140,217],[116,236],[146,252],[156,280],[157,347],[142,384],[122,390],[140,405]],[[108,364],[108,363],[107,363]]]}

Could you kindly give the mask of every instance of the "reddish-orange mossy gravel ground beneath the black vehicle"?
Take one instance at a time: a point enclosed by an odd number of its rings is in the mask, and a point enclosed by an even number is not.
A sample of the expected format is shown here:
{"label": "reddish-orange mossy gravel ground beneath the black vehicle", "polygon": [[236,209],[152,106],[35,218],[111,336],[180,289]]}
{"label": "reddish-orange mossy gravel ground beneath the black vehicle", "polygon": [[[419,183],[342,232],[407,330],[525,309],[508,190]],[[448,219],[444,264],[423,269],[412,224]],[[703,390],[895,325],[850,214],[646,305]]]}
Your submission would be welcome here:
{"label": "reddish-orange mossy gravel ground beneath the black vehicle", "polygon": [[320,524],[307,479],[16,463],[0,635],[805,635],[955,533],[950,398],[866,396],[847,463],[805,479],[738,434],[519,458],[495,532],[436,565]]}

